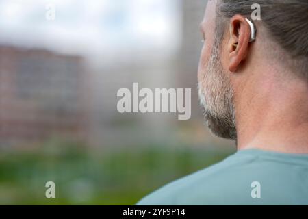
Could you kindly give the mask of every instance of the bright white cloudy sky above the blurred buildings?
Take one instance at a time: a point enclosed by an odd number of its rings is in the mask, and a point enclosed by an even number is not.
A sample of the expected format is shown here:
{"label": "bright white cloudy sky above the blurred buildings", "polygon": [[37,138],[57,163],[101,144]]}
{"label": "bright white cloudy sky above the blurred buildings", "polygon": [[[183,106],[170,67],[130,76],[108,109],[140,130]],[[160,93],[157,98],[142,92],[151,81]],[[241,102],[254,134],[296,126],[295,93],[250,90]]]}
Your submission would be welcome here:
{"label": "bright white cloudy sky above the blurred buildings", "polygon": [[180,0],[0,0],[0,43],[68,53],[175,49],[179,9]]}

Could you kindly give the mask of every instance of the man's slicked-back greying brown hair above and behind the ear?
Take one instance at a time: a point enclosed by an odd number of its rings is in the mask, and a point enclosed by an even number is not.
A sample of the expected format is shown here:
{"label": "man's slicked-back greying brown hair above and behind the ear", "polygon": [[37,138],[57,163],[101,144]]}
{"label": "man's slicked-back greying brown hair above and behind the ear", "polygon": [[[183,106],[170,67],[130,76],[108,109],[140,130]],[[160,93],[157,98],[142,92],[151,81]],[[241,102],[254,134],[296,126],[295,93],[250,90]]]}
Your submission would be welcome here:
{"label": "man's slicked-back greying brown hair above and behind the ear", "polygon": [[[290,66],[308,79],[307,0],[220,0],[216,31],[224,30],[226,20],[221,16],[231,18],[241,14],[249,17],[254,3],[261,6],[261,25],[266,27],[272,40],[285,51]],[[218,33],[219,36],[221,33]]]}

